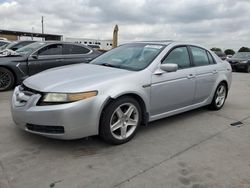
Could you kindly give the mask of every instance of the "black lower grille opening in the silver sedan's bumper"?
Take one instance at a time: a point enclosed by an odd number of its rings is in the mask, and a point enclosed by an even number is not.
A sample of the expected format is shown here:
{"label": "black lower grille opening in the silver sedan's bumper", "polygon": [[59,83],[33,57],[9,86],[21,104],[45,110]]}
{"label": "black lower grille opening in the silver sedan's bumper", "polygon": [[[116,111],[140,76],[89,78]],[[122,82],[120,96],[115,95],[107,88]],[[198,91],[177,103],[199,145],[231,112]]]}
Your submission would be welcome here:
{"label": "black lower grille opening in the silver sedan's bumper", "polygon": [[63,126],[46,126],[46,125],[34,125],[26,124],[26,127],[30,131],[39,132],[39,133],[50,133],[50,134],[63,134]]}

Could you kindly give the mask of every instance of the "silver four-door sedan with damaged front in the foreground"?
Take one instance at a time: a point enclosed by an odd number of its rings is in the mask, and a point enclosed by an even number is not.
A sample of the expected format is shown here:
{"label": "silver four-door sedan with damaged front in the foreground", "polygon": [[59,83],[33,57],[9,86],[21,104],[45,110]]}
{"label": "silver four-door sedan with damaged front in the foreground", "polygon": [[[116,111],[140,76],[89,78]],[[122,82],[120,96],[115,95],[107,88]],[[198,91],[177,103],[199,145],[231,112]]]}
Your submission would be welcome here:
{"label": "silver four-door sedan with damaged front in the foreground", "polygon": [[231,66],[196,44],[153,41],[121,45],[93,60],[27,78],[12,97],[22,129],[47,137],[100,135],[122,144],[140,125],[208,106],[219,110]]}

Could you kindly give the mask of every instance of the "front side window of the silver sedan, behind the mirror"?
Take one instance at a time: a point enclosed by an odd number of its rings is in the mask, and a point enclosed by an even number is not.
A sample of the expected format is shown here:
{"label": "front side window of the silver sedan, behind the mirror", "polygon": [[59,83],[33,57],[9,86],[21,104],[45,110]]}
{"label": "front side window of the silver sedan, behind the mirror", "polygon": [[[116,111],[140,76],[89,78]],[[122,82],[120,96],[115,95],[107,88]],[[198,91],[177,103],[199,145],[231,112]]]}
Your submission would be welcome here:
{"label": "front side window of the silver sedan, behind the mirror", "polygon": [[190,60],[188,55],[188,50],[186,47],[178,47],[173,49],[162,64],[174,63],[178,65],[179,69],[184,69],[190,67]]}

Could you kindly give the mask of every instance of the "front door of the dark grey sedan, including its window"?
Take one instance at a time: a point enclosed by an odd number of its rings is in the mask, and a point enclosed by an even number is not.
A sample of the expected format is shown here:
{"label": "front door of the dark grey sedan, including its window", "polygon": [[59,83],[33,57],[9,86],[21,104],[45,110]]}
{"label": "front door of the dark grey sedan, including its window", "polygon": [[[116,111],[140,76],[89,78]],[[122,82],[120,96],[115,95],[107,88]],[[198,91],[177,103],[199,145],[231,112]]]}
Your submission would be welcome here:
{"label": "front door of the dark grey sedan, including its window", "polygon": [[62,65],[62,44],[47,45],[28,58],[29,75]]}

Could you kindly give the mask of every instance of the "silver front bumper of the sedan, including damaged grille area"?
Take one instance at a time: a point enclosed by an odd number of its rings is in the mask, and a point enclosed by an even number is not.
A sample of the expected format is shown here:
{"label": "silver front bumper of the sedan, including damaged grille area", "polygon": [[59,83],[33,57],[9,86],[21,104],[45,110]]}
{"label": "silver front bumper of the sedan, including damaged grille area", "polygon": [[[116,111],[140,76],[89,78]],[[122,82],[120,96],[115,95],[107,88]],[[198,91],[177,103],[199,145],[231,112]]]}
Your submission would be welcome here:
{"label": "silver front bumper of the sedan, including damaged grille area", "polygon": [[[30,94],[30,93],[29,93]],[[11,104],[13,121],[23,130],[58,139],[98,134],[98,97],[59,105],[37,106],[41,94],[26,95],[17,86]]]}

